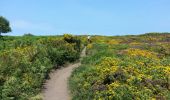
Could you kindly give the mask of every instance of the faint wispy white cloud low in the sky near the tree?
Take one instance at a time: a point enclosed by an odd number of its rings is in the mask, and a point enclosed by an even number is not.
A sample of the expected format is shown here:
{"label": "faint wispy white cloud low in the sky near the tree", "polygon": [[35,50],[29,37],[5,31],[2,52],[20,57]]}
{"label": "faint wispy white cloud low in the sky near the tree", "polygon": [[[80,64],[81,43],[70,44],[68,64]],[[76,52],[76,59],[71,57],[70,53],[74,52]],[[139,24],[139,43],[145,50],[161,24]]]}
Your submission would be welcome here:
{"label": "faint wispy white cloud low in the sky near the tree", "polygon": [[26,20],[11,21],[11,27],[19,30],[52,31],[55,28],[46,23],[34,23]]}

